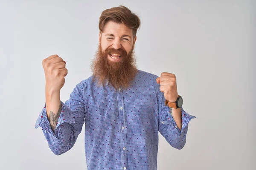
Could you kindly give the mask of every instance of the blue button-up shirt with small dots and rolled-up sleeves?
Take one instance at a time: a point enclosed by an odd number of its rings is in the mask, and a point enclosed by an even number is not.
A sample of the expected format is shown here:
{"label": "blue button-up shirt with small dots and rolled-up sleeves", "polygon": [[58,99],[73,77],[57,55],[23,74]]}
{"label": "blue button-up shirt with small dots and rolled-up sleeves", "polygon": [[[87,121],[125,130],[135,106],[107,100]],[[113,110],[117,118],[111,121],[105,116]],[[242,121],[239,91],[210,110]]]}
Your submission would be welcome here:
{"label": "blue button-up shirt with small dots and rolled-up sleeves", "polygon": [[98,86],[93,77],[79,82],[61,101],[55,132],[42,109],[35,128],[42,127],[56,155],[70,150],[85,125],[87,170],[157,170],[158,131],[177,149],[186,143],[188,123],[195,116],[182,111],[180,130],[165,106],[157,76],[138,71],[130,88]]}

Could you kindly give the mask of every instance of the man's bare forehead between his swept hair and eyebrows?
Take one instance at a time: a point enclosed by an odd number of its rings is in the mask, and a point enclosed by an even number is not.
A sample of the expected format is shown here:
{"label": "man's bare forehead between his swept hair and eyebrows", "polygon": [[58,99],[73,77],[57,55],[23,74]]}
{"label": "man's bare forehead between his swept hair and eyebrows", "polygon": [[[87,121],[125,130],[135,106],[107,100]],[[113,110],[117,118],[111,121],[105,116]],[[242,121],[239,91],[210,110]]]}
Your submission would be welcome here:
{"label": "man's bare forehead between his swept hair and eyebrows", "polygon": [[114,34],[115,36],[122,36],[123,34],[128,34],[132,37],[132,29],[128,28],[124,24],[115,23],[113,21],[108,21],[105,24],[103,34]]}

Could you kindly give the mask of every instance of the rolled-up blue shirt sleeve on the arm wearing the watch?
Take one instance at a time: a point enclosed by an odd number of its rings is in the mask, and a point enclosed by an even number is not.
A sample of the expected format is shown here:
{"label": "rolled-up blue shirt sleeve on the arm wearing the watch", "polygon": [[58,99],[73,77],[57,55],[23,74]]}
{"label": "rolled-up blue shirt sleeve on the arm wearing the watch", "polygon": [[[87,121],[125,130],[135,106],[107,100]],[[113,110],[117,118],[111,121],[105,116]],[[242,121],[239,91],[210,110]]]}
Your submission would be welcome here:
{"label": "rolled-up blue shirt sleeve on the arm wearing the watch", "polygon": [[165,106],[166,99],[163,96],[163,92],[160,91],[160,85],[157,84],[156,86],[158,102],[158,130],[172,147],[182,149],[186,144],[186,134],[189,127],[189,121],[196,117],[189,115],[189,113],[186,113],[186,111],[183,110],[183,107],[181,107],[182,128],[180,130],[172,117],[172,109]]}

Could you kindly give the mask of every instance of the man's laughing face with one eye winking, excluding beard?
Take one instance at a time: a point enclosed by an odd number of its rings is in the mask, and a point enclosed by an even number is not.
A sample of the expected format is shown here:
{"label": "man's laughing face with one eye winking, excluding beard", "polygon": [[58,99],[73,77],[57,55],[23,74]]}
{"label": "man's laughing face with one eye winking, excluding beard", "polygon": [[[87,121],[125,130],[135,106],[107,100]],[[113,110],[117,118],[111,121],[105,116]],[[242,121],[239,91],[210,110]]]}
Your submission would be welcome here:
{"label": "man's laughing face with one eye winking, excluding beard", "polygon": [[124,24],[109,21],[105,24],[104,32],[99,33],[99,42],[102,46],[103,52],[107,49],[112,49],[111,54],[108,54],[108,59],[111,62],[119,62],[123,59],[118,51],[126,51],[126,54],[131,52],[137,37],[133,38],[132,29],[126,27]]}

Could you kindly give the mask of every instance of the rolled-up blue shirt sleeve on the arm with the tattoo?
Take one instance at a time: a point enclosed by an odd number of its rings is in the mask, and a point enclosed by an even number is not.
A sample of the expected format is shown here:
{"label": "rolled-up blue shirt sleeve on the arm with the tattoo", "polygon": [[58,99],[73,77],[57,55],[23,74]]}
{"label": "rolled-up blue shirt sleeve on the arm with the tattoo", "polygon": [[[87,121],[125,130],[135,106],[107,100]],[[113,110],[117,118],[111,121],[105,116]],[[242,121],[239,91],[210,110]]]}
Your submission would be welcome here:
{"label": "rolled-up blue shirt sleeve on the arm with the tattoo", "polygon": [[35,128],[39,126],[42,128],[49,148],[55,155],[61,155],[70,150],[81,133],[85,117],[83,85],[82,82],[77,84],[70,98],[65,103],[61,101],[61,114],[54,132],[47,119],[46,104],[38,116]]}

